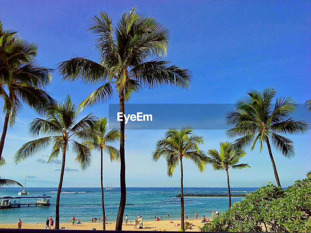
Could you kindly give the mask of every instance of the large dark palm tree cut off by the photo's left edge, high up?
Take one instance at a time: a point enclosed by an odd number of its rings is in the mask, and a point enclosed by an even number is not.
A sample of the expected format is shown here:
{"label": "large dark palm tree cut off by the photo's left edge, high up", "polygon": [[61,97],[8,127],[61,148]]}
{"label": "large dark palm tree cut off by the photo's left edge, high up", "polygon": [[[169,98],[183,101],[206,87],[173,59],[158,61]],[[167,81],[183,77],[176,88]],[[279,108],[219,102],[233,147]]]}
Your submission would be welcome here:
{"label": "large dark palm tree cut off by the photo's left edge, high up", "polygon": [[43,114],[53,99],[44,91],[52,81],[52,69],[35,60],[38,45],[21,40],[16,32],[5,30],[0,21],[0,95],[4,100],[4,126],[0,140],[0,159],[7,127],[13,126],[22,103]]}

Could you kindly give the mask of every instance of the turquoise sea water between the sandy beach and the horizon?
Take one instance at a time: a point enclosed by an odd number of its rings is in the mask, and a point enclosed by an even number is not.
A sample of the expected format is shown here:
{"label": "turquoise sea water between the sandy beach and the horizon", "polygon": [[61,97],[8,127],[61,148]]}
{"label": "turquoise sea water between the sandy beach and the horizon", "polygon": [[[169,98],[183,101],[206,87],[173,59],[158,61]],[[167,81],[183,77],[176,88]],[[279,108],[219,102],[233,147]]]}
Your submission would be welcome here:
{"label": "turquoise sea water between the sandy beach and the horizon", "polygon": [[[232,194],[252,192],[256,188],[231,188]],[[17,196],[19,188],[1,188],[0,197]],[[21,218],[24,223],[45,222],[46,218],[55,218],[55,200],[57,188],[27,188],[31,196],[46,194],[50,198],[50,206],[21,207],[0,210],[0,223],[16,223]],[[225,194],[226,188],[184,188],[184,194]],[[162,216],[162,219],[180,218],[180,198],[175,196],[180,188],[127,188],[127,202],[124,217],[129,221],[137,215],[142,215],[145,221],[152,216]],[[185,197],[185,212],[189,218],[194,218],[198,212],[211,216],[208,211],[225,211],[228,208],[228,197]],[[232,202],[240,201],[241,197],[232,197]],[[120,188],[104,190],[105,211],[107,221],[115,221],[120,202]],[[167,217],[167,213],[170,217]],[[100,188],[63,188],[60,199],[60,222],[70,222],[72,216],[81,222],[90,222],[92,217],[101,216]]]}

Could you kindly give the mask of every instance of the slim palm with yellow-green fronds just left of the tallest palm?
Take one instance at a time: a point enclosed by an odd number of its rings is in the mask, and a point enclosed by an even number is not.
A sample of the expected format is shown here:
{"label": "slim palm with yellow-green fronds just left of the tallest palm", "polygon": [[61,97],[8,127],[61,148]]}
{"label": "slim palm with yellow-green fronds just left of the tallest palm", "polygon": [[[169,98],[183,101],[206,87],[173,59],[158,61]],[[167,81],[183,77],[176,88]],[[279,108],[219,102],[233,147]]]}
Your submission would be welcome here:
{"label": "slim palm with yellow-green fronds just left of the tallest palm", "polygon": [[105,224],[105,208],[104,208],[104,186],[103,186],[103,152],[109,154],[111,162],[120,160],[120,151],[109,145],[120,139],[120,132],[118,129],[108,131],[107,118],[100,118],[95,121],[93,130],[86,130],[81,132],[81,136],[86,139],[86,145],[91,149],[100,151],[100,182],[101,182],[101,203],[103,211],[103,230],[106,230]]}

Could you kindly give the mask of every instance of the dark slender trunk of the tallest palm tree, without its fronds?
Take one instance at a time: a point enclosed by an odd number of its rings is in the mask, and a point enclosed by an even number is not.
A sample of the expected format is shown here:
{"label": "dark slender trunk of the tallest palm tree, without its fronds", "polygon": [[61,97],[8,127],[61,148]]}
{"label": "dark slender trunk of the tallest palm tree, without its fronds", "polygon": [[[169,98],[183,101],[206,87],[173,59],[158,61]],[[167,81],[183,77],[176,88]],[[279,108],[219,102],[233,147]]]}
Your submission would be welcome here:
{"label": "dark slender trunk of the tallest palm tree, without its fronds", "polygon": [[[124,114],[124,90],[120,91],[119,94],[120,99],[120,112],[122,112],[122,119]],[[126,185],[125,185],[125,154],[124,154],[124,131],[125,131],[125,121],[120,121],[120,163],[121,163],[121,171],[120,171],[120,190],[121,190],[121,198],[119,211],[116,222],[116,231],[122,231],[122,223],[123,223],[123,214],[126,203]]]}

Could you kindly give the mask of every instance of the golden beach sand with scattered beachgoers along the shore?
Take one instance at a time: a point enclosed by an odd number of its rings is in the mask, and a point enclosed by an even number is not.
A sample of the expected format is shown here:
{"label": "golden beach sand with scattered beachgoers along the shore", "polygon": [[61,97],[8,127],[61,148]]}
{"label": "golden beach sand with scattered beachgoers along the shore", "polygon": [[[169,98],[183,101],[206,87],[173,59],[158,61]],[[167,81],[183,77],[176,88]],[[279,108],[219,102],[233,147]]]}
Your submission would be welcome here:
{"label": "golden beach sand with scattered beachgoers along the shore", "polygon": [[[173,223],[170,223],[170,222]],[[192,230],[187,231],[199,231],[199,226],[203,226],[203,223],[201,222],[201,219],[188,219],[188,222],[193,223],[195,226],[193,226]],[[144,221],[143,222],[143,229],[138,229],[139,226],[137,226],[137,229],[134,229],[134,226],[132,225],[132,222],[129,222],[128,226],[125,225],[125,222],[123,222],[122,230],[127,231],[161,231],[161,229],[165,229],[165,231],[178,231],[180,229],[180,226],[176,226],[176,223],[180,224],[180,220],[161,220],[161,221]],[[55,223],[54,223],[55,225]],[[106,224],[106,230],[115,230],[115,222],[109,222]],[[78,224],[75,226],[72,226],[70,222],[61,223],[59,227],[68,227],[67,230],[92,230],[92,228],[96,228],[96,230],[103,230],[103,226],[100,223],[92,223],[92,222],[82,222],[82,224]],[[147,227],[147,228],[145,228]],[[17,228],[17,221],[16,224],[6,224],[6,223],[0,223],[0,228]],[[22,229],[45,229],[45,223],[23,223]],[[49,228],[48,228],[49,229]]]}

